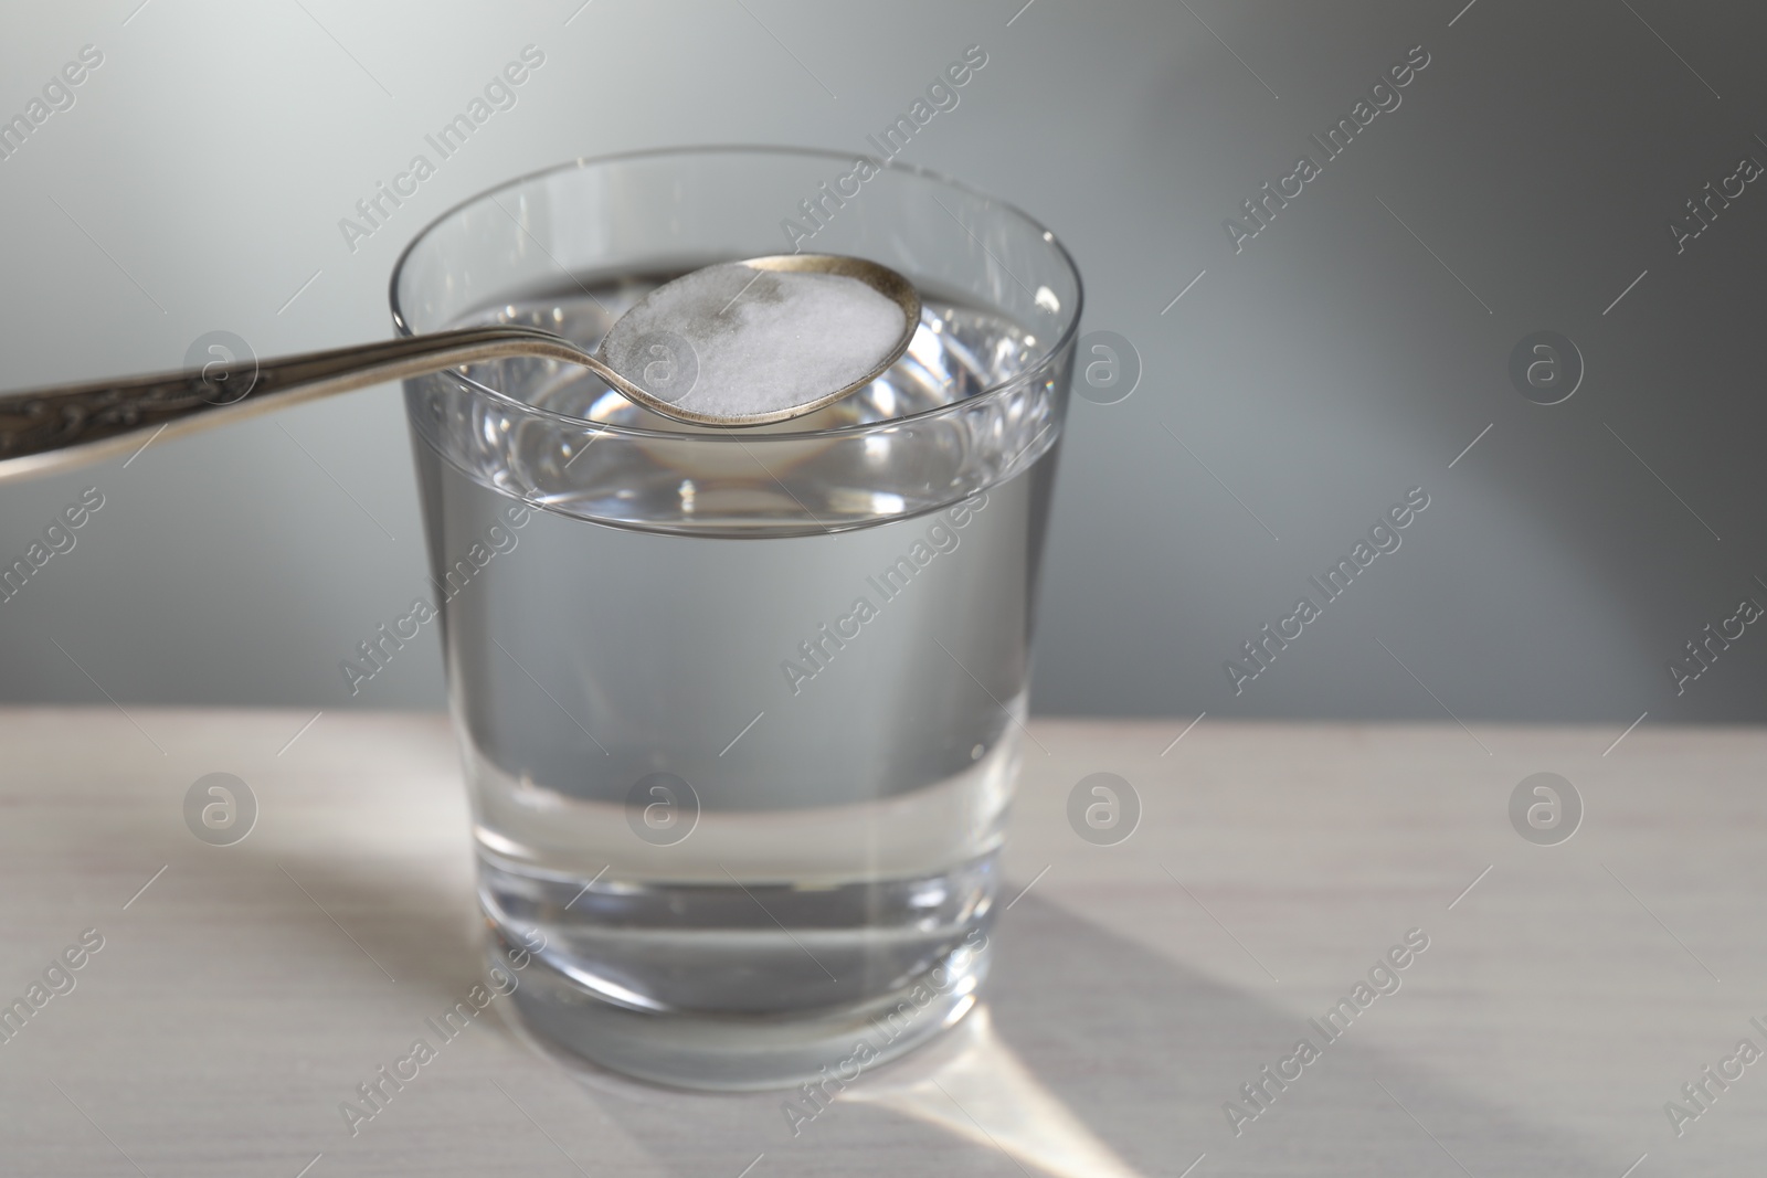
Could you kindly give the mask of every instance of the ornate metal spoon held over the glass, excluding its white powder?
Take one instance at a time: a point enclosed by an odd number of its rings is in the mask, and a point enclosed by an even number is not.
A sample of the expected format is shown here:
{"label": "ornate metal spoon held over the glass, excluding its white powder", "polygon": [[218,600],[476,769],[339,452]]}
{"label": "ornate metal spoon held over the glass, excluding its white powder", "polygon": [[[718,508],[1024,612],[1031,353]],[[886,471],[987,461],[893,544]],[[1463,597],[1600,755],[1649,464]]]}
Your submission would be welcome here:
{"label": "ornate metal spoon held over the glass, excluding its white powder", "polygon": [[[677,406],[671,396],[679,392],[643,389],[640,385],[643,371],[626,374],[615,371],[603,355],[604,348],[590,355],[562,336],[532,327],[463,327],[270,360],[239,360],[157,376],[30,389],[0,394],[0,482],[124,454],[141,445],[143,434],[178,436],[366,385],[505,357],[578,364],[626,399],[673,420],[701,426],[760,426],[800,417],[864,389],[901,359],[921,321],[921,297],[914,286],[876,261],[839,254],[779,254],[749,258],[740,265],[755,270],[838,274],[859,279],[901,309],[901,337],[859,380],[841,389],[800,404],[740,417],[717,417]],[[617,339],[618,332],[620,325],[615,323],[608,339]],[[237,394],[237,389],[246,392]]]}

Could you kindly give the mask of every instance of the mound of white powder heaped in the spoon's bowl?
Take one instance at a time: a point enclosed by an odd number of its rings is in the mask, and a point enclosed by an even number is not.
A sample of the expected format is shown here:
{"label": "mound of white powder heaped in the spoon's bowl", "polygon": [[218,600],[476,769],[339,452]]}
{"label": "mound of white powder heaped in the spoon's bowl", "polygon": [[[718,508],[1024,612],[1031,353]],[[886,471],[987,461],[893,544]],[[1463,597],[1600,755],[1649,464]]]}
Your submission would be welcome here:
{"label": "mound of white powder heaped in the spoon's bowl", "polygon": [[901,307],[859,279],[732,261],[650,291],[601,351],[659,401],[740,420],[845,389],[901,334]]}

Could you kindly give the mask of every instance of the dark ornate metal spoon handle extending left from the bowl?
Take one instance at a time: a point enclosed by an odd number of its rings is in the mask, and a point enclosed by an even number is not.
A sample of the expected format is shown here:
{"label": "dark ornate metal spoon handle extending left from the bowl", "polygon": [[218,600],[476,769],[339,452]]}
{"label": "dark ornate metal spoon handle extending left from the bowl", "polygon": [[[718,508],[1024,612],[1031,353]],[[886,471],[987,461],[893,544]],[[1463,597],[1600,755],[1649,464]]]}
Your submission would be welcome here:
{"label": "dark ornate metal spoon handle extending left from the bowl", "polygon": [[504,357],[564,360],[617,387],[626,385],[606,364],[551,332],[463,327],[157,376],[28,389],[0,394],[0,482],[122,454],[159,431],[177,436],[300,401]]}

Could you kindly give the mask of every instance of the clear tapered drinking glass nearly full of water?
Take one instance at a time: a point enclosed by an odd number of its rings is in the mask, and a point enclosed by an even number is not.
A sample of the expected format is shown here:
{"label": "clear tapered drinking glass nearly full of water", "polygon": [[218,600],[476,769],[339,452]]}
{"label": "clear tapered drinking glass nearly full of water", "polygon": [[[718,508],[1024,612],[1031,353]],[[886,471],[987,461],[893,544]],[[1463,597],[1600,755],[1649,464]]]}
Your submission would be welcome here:
{"label": "clear tapered drinking glass nearly full of water", "polygon": [[594,348],[793,249],[924,300],[809,417],[682,426],[530,359],[405,385],[493,961],[544,1038],[691,1088],[852,1079],[977,1000],[1080,276],[938,177],[710,148],[507,184],[392,277],[399,332]]}

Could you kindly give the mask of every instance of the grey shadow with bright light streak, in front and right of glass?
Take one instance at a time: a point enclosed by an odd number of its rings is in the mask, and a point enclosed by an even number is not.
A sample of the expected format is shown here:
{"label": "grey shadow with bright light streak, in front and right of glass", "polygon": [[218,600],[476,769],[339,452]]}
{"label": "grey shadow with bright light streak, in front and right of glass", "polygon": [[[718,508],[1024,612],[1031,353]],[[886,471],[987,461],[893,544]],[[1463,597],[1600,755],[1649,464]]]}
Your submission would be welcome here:
{"label": "grey shadow with bright light streak, in front and right of glass", "polygon": [[1053,1178],[1180,1174],[1200,1155],[1193,1178],[1585,1174],[1627,1160],[1468,1097],[1428,1060],[1364,1049],[1354,1026],[1235,1137],[1223,1102],[1244,1106],[1240,1084],[1304,1033],[1318,1044],[1306,1019],[1032,897],[1002,922],[995,954],[982,1008],[808,1123],[783,1111],[793,1093],[677,1093],[567,1067],[684,1178],[709,1173],[710,1141],[735,1162],[730,1178],[760,1152],[767,1174]]}

